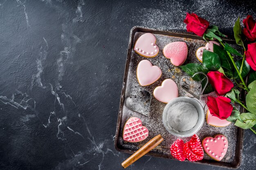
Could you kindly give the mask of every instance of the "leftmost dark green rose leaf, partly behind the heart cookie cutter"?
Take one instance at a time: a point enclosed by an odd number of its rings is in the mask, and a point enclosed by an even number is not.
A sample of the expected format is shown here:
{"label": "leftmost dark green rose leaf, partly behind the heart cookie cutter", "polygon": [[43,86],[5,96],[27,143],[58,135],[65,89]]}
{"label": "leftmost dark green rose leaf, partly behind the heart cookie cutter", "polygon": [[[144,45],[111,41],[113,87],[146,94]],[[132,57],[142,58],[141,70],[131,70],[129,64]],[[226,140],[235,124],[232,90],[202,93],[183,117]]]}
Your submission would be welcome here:
{"label": "leftmost dark green rose leaf, partly behind the heart cookie cutter", "polygon": [[[187,65],[182,65],[180,66],[180,68],[186,72],[187,74],[189,74],[189,76],[193,76],[193,74],[195,74],[196,72],[203,72],[205,74],[207,74],[209,72],[209,70],[204,67],[204,65],[198,64],[198,63],[189,63]],[[193,77],[193,80],[195,81],[201,81],[205,78],[204,75],[202,74],[198,74],[195,75]]]}

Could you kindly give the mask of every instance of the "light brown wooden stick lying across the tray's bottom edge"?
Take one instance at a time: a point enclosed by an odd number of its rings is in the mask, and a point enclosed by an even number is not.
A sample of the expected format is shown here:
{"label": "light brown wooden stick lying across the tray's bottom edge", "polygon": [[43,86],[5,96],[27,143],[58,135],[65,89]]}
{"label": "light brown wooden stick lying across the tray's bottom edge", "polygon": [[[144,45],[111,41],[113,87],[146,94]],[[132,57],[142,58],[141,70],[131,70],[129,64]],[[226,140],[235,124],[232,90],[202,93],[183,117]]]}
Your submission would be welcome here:
{"label": "light brown wooden stick lying across the tray's bottom edge", "polygon": [[144,146],[142,146],[139,150],[137,150],[132,156],[130,156],[128,159],[126,159],[121,165],[123,168],[127,168],[132,163],[137,161],[140,157],[148,153],[150,150],[155,148],[157,145],[159,145],[164,139],[161,135],[155,136],[153,139],[148,141]]}

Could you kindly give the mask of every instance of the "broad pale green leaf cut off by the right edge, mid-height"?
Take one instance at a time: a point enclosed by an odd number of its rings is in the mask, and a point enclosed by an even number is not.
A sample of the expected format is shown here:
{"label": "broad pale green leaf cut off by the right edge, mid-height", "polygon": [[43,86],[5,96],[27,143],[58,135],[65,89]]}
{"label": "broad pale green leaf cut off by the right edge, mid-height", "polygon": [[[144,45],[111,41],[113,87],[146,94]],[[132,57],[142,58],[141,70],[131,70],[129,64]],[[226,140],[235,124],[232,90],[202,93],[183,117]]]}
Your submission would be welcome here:
{"label": "broad pale green leaf cut off by the right edge, mid-height", "polygon": [[254,85],[246,96],[248,110],[256,115],[256,86]]}

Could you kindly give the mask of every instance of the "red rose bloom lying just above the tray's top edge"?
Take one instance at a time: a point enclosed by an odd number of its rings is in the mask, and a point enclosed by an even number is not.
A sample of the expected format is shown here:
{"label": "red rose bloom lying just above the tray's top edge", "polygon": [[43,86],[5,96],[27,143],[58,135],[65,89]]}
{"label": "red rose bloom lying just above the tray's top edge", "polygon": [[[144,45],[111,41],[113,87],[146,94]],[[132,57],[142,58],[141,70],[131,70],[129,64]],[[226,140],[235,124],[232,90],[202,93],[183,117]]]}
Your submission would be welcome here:
{"label": "red rose bloom lying just above the tray's top edge", "polygon": [[186,13],[184,23],[187,24],[186,30],[188,32],[195,33],[200,37],[204,35],[204,32],[207,30],[210,24],[207,20],[198,17],[198,15],[195,13]]}

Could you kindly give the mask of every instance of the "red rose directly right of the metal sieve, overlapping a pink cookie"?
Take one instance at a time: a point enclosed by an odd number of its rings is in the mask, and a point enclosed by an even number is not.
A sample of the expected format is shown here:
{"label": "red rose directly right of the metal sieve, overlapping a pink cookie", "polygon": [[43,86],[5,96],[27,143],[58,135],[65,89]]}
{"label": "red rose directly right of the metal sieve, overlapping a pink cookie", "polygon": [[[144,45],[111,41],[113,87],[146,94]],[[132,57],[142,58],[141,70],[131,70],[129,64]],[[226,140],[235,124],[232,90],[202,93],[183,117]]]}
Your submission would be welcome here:
{"label": "red rose directly right of the metal sieve, overlapping a pink cookie", "polygon": [[208,96],[207,106],[212,116],[216,116],[220,119],[227,119],[233,110],[233,106],[230,104],[231,100],[227,97],[218,96],[217,98]]}

